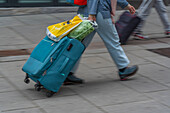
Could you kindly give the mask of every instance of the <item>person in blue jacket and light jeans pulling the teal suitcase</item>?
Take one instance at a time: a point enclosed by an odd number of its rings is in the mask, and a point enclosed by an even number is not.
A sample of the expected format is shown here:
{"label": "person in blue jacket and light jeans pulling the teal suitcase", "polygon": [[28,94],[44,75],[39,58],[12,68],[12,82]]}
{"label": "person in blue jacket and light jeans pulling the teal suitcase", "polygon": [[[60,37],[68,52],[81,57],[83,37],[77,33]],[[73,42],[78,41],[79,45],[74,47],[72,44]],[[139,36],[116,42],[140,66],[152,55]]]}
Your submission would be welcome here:
{"label": "person in blue jacket and light jeans pulling the teal suitcase", "polygon": [[[135,65],[128,67],[130,61],[120,46],[119,36],[116,31],[113,18],[113,16],[115,16],[116,1],[117,0],[88,0],[87,6],[79,8],[78,14],[83,14],[84,16],[88,17],[89,20],[96,21],[98,23],[98,29],[88,35],[82,43],[87,47],[97,32],[103,40],[112,60],[115,62],[119,70],[120,80],[127,80],[130,76],[137,72],[138,66]],[[122,8],[129,9],[132,14],[135,13],[135,8],[131,6],[126,0],[118,0],[117,3]],[[77,78],[74,75],[78,68],[79,61],[76,63],[65,80],[66,84],[67,82],[83,82],[82,79]]]}

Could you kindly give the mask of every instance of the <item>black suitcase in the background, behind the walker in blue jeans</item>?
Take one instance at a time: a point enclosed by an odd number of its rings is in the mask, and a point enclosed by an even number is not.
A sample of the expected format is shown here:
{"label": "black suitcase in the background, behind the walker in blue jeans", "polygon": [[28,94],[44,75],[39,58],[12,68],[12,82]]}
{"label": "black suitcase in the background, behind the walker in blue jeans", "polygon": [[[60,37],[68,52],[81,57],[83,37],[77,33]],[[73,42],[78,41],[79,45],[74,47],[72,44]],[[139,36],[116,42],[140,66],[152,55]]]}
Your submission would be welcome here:
{"label": "black suitcase in the background, behind the walker in blue jeans", "polygon": [[115,23],[120,43],[125,45],[130,35],[140,23],[141,19],[137,15],[132,15],[125,11]]}

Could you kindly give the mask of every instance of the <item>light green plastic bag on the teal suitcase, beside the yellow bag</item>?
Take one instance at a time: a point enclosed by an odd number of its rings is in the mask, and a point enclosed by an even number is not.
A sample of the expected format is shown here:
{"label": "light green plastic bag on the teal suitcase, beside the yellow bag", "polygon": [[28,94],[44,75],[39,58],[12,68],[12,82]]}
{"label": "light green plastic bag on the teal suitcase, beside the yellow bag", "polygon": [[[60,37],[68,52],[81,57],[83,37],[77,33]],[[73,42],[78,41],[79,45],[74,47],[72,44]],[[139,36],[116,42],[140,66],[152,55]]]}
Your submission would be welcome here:
{"label": "light green plastic bag on the teal suitcase, beside the yellow bag", "polygon": [[88,34],[93,32],[95,29],[89,20],[84,20],[80,25],[72,30],[68,37],[75,38],[79,41],[82,41]]}

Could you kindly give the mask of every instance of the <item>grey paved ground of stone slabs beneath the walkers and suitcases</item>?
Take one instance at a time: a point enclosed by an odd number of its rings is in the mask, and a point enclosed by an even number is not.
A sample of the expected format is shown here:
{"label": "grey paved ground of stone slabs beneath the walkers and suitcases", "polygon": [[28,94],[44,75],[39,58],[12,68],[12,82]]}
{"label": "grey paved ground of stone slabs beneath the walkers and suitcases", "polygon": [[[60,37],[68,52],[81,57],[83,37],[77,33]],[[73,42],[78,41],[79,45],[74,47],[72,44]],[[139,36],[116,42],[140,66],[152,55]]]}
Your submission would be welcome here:
{"label": "grey paved ground of stone slabs beneath the walkers and suitcases", "polygon": [[[121,14],[121,12],[117,12]],[[0,50],[30,49],[45,36],[45,28],[75,13],[0,17]],[[170,17],[170,7],[168,7]],[[23,82],[28,55],[0,57],[0,112],[2,113],[170,113],[170,58],[147,49],[169,48],[170,38],[155,10],[144,28],[152,39],[133,37],[123,48],[135,77],[119,81],[117,69],[98,35],[83,55],[77,76],[86,83],[62,86],[52,98]]]}

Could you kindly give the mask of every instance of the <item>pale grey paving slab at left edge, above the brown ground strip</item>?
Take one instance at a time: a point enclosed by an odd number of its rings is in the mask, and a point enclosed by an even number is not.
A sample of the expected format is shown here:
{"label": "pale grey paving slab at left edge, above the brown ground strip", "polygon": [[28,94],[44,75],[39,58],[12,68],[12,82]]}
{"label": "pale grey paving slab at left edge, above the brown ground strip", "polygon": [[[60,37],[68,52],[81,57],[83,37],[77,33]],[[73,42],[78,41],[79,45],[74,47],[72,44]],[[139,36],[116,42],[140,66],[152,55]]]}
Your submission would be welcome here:
{"label": "pale grey paving slab at left edge, above the brown ground strip", "polygon": [[8,28],[0,28],[0,46],[12,46],[18,44],[30,44],[29,41],[25,40],[18,33],[8,29]]}

